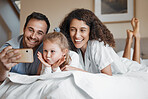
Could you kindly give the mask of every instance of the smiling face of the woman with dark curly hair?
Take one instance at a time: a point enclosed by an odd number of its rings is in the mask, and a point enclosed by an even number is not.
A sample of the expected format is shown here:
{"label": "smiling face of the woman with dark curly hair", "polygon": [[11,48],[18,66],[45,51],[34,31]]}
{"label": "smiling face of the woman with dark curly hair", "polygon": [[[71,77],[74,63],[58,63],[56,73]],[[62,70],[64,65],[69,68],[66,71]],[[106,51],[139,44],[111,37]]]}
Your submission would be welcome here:
{"label": "smiling face of the woman with dark curly hair", "polygon": [[70,23],[70,37],[76,48],[86,50],[90,27],[82,20],[73,19]]}

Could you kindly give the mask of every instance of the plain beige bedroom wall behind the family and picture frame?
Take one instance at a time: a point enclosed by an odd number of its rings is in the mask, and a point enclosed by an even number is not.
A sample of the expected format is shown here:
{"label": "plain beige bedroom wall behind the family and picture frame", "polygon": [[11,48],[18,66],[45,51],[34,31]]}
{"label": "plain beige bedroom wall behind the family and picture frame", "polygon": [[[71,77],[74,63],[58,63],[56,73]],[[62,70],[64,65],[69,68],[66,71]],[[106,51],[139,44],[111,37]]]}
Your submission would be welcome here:
{"label": "plain beige bedroom wall behind the family and picture frame", "polygon": [[[141,37],[148,37],[148,0],[136,0],[136,17],[140,20]],[[33,11],[47,15],[51,22],[50,31],[59,25],[67,13],[75,8],[87,8],[94,11],[94,0],[21,0],[21,33],[25,18]],[[105,24],[115,38],[126,38],[126,29],[131,29],[130,23]]]}

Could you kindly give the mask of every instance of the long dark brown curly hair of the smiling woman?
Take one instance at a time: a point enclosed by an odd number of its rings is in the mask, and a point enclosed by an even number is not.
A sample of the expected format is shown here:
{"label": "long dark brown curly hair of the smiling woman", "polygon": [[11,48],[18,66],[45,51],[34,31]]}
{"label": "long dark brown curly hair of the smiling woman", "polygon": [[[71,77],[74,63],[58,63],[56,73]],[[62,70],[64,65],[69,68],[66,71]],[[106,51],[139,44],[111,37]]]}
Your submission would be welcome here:
{"label": "long dark brown curly hair of the smiling woman", "polygon": [[59,25],[61,32],[67,37],[71,50],[76,50],[70,38],[70,23],[73,19],[82,20],[90,27],[89,40],[98,40],[115,47],[115,41],[112,33],[107,27],[97,18],[97,16],[88,9],[75,9],[70,12]]}

